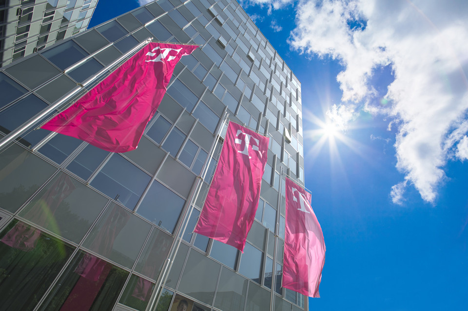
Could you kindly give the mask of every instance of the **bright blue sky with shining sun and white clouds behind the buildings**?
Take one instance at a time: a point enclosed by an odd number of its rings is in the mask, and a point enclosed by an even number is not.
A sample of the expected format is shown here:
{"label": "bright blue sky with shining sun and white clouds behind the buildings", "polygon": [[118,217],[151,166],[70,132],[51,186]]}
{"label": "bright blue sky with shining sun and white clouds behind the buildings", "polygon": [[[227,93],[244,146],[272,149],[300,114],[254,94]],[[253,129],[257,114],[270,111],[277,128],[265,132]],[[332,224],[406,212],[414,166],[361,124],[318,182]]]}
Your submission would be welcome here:
{"label": "bright blue sky with shining sun and white clouds behind the buildings", "polygon": [[[90,26],[137,5],[99,0]],[[467,310],[468,2],[243,7],[302,83],[327,245],[310,309]]]}

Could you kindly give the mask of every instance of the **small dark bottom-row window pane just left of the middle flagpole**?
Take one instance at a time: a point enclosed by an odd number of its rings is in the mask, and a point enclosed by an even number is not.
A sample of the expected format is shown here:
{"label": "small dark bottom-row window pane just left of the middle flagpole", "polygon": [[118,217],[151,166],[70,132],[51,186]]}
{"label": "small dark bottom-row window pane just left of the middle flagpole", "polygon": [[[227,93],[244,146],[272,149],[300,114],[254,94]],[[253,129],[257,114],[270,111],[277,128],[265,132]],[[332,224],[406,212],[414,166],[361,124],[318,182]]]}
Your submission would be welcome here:
{"label": "small dark bottom-row window pane just left of the middle flagpole", "polygon": [[118,302],[133,309],[145,311],[154,288],[155,283],[132,274]]}

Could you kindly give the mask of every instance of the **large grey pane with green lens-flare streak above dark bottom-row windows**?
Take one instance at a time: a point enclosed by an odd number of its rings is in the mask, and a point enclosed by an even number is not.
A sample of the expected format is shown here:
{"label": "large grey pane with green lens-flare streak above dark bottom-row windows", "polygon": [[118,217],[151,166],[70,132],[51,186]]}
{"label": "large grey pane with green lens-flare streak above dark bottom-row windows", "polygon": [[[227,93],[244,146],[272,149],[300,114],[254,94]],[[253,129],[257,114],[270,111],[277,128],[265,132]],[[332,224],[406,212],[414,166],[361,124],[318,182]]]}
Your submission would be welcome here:
{"label": "large grey pane with green lens-flare streak above dark bottom-row windows", "polygon": [[20,216],[79,243],[107,199],[60,173],[21,211]]}

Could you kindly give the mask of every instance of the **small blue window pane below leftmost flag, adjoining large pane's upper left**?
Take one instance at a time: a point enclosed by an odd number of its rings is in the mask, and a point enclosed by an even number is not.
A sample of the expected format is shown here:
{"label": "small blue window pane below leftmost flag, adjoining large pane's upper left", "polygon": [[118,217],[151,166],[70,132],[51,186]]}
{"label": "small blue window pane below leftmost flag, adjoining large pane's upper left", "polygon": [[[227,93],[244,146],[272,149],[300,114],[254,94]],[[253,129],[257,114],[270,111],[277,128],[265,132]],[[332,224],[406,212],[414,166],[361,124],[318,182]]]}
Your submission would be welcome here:
{"label": "small blue window pane below leftmost flag, adjoining large pane's upper left", "polygon": [[67,168],[82,179],[87,180],[108,154],[109,151],[88,145]]}

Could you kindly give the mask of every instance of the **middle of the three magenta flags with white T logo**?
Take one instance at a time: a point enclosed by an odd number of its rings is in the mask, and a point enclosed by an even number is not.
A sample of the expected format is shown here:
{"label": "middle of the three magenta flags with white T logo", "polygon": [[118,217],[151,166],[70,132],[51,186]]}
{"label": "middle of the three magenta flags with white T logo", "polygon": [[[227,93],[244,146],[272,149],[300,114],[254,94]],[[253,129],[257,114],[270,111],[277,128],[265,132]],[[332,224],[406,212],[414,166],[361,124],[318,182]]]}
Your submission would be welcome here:
{"label": "middle of the three magenta flags with white T logo", "polygon": [[230,122],[194,232],[244,251],[257,211],[269,138]]}

